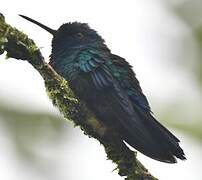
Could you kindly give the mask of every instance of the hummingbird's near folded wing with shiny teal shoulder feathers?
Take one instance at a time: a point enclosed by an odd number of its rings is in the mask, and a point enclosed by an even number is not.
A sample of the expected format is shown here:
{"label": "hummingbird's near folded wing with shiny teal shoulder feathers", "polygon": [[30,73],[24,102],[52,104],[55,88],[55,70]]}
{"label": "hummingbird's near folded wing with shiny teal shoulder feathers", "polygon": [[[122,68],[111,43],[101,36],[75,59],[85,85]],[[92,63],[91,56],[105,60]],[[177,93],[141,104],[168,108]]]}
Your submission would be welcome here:
{"label": "hummingbird's near folded wing with shiny teal shoulder feathers", "polygon": [[[145,154],[148,154],[145,149],[154,154],[155,139],[152,138],[138,113],[134,111],[128,94],[116,78],[117,67],[109,55],[100,55],[95,50],[88,50],[80,53],[77,61],[80,70],[89,75],[96,93],[99,93],[98,96],[102,96],[100,101],[110,104],[108,113],[114,114],[116,123],[120,124],[119,127],[123,129],[124,140]],[[94,111],[101,103],[97,102],[97,105],[93,107]]]}

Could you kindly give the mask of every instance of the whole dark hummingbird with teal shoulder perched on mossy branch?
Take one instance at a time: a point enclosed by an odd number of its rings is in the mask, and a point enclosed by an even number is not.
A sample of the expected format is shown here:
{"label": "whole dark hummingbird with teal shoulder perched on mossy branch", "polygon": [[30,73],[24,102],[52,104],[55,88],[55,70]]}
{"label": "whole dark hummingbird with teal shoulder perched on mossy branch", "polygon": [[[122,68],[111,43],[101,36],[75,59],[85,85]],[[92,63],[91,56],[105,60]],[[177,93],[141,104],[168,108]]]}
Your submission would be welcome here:
{"label": "whole dark hummingbird with teal shoulder perched on mossy branch", "polygon": [[186,159],[179,139],[153,116],[132,66],[111,53],[94,29],[86,23],[68,22],[53,30],[20,16],[53,35],[49,64],[123,142],[161,162]]}

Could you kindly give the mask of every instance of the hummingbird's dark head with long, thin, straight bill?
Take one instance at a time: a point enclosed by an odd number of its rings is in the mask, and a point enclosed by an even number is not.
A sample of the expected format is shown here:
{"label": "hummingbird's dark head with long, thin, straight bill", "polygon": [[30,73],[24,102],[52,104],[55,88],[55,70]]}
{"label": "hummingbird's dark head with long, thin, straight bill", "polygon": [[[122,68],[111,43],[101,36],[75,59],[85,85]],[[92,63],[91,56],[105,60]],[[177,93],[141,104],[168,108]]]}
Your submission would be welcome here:
{"label": "hummingbird's dark head with long, thin, straight bill", "polygon": [[66,23],[53,30],[29,17],[20,15],[26,20],[40,26],[53,35],[52,51],[61,51],[62,49],[71,50],[83,48],[87,45],[97,46],[104,44],[104,40],[98,33],[91,29],[86,23]]}

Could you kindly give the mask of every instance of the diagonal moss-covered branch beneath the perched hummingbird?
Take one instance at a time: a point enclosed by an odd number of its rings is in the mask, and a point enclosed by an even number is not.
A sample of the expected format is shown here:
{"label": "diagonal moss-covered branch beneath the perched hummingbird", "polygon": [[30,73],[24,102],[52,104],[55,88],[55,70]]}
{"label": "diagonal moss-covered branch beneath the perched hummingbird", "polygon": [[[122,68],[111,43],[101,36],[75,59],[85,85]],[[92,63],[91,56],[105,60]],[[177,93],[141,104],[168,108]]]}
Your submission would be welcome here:
{"label": "diagonal moss-covered branch beneath the perched hummingbird", "polygon": [[69,88],[68,82],[44,61],[34,41],[8,25],[4,16],[0,14],[0,54],[4,52],[7,53],[8,58],[28,61],[41,74],[53,104],[66,119],[79,126],[84,134],[97,139],[104,146],[108,159],[117,164],[116,169],[120,176],[125,176],[126,180],[156,180],[118,134],[98,121],[85,103],[77,99]]}

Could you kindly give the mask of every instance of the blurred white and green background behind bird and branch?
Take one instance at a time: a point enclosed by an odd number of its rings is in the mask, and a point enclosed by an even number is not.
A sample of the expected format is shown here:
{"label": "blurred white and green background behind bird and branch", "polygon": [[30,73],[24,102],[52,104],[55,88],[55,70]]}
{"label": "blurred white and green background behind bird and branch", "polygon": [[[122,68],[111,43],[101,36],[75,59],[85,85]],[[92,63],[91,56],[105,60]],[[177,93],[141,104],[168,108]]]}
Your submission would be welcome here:
{"label": "blurred white and green background behind bird and branch", "polygon": [[[13,3],[4,2],[2,13],[42,47],[47,59],[51,36],[18,13],[53,28],[78,20],[97,29],[113,53],[134,66],[155,116],[181,139],[187,154],[187,161],[176,165],[138,153],[140,160],[161,180],[202,179],[202,1]],[[26,62],[4,59],[0,57],[0,179],[123,179],[100,144],[52,106],[39,74]]]}

